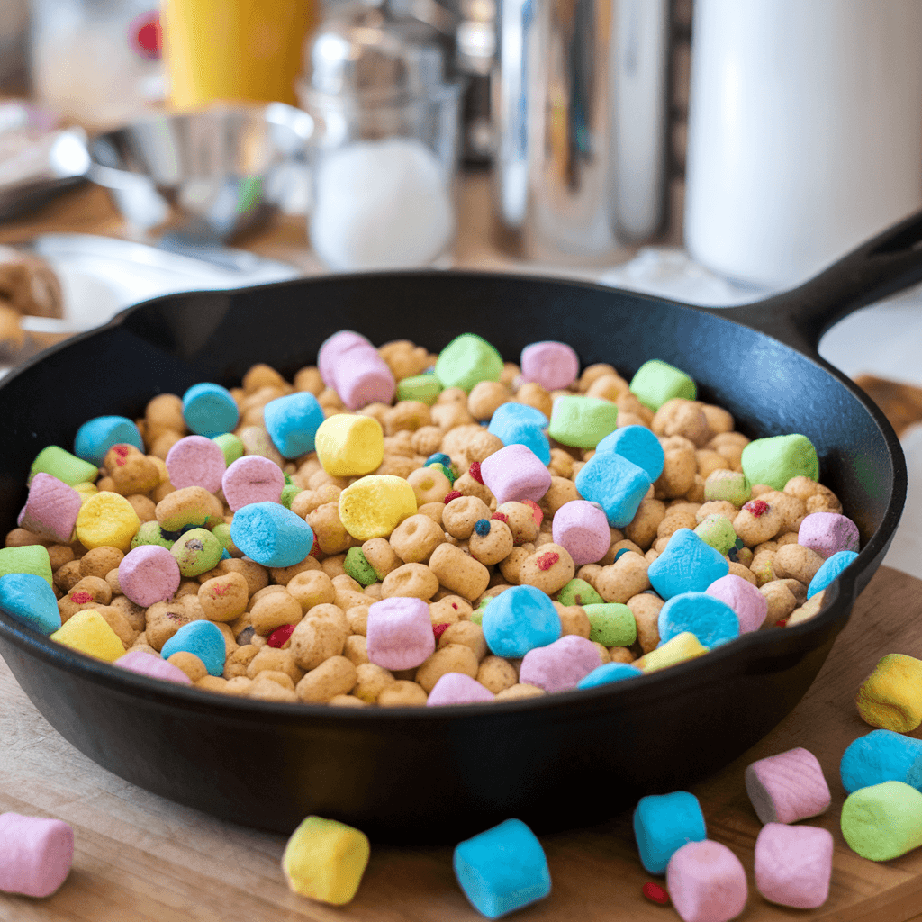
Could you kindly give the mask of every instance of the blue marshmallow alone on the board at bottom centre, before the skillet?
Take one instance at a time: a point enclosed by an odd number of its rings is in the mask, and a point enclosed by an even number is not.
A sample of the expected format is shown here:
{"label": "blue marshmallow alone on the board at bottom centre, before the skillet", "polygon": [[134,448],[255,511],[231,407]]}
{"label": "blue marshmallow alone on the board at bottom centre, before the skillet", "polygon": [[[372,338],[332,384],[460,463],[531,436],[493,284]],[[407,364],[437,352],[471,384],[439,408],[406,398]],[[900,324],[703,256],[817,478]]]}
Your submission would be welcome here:
{"label": "blue marshmallow alone on the board at bottom centre, before the skillet", "polygon": [[538,837],[506,820],[455,847],[455,877],[481,916],[495,919],[543,900],[550,870]]}

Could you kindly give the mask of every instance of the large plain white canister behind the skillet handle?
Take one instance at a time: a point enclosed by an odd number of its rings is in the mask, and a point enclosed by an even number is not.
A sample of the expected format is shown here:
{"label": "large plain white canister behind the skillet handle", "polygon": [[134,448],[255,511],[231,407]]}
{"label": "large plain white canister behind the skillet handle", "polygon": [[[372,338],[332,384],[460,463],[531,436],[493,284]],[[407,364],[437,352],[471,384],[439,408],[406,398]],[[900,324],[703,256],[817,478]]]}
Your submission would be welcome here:
{"label": "large plain white canister behind the skillet handle", "polygon": [[695,0],[685,243],[797,284],[922,207],[922,0]]}

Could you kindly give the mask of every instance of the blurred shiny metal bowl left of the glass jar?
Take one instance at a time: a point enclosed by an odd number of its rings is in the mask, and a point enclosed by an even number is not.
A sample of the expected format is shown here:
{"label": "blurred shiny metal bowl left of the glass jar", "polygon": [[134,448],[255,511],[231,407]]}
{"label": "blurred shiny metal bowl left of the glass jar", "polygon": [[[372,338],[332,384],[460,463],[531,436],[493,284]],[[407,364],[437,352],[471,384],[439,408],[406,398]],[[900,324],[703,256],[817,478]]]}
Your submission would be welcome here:
{"label": "blurred shiny metal bowl left of the glass jar", "polygon": [[224,242],[305,210],[312,131],[282,102],[162,115],[93,138],[89,177],[164,249],[232,266]]}

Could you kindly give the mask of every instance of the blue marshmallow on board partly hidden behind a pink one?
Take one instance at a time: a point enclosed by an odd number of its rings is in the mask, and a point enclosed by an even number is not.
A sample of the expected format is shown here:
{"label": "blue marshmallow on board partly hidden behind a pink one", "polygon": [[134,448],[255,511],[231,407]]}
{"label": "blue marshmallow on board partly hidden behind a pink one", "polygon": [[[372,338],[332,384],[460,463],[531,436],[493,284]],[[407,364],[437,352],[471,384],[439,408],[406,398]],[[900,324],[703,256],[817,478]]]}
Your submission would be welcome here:
{"label": "blue marshmallow on board partly hidden behind a pink one", "polygon": [[641,863],[651,874],[665,874],[682,845],[707,838],[701,804],[688,791],[640,798],[633,826]]}

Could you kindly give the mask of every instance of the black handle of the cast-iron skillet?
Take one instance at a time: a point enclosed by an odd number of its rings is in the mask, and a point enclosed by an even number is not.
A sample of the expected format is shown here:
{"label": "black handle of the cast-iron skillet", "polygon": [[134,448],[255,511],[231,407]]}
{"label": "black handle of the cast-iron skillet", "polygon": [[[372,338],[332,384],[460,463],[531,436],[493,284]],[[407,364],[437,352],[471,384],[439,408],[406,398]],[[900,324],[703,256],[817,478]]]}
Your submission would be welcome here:
{"label": "black handle of the cast-iron skillet", "polygon": [[922,211],[862,243],[796,289],[715,309],[787,346],[818,356],[823,333],[849,313],[922,281]]}

